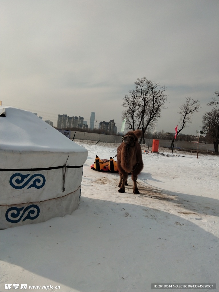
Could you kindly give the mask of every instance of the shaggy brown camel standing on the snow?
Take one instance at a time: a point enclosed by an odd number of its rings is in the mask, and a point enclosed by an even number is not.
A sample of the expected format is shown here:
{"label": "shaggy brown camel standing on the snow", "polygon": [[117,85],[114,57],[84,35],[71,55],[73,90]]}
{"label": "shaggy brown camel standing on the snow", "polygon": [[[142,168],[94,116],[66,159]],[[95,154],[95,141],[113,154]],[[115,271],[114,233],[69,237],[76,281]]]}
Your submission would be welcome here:
{"label": "shaggy brown camel standing on the snow", "polygon": [[117,166],[119,170],[119,193],[125,192],[128,173],[131,173],[133,180],[133,193],[140,194],[137,187],[138,174],[142,171],[144,165],[142,161],[141,146],[138,138],[142,136],[141,130],[129,131],[122,137],[122,143],[117,148]]}

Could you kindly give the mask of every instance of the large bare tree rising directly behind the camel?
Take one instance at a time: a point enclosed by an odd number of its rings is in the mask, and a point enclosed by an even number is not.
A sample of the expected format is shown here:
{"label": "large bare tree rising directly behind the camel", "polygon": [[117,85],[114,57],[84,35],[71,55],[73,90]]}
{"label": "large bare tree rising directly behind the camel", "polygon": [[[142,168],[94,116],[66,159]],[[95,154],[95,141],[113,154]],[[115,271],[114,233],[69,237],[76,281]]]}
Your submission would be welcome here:
{"label": "large bare tree rising directly behind the camel", "polygon": [[153,129],[157,119],[161,117],[161,110],[168,96],[164,94],[165,91],[165,86],[142,77],[136,80],[135,91],[129,91],[129,96],[125,95],[123,98],[122,106],[126,109],[123,111],[122,118],[126,118],[129,129],[142,130],[143,136],[140,143],[143,139],[143,144],[145,144],[146,129]]}

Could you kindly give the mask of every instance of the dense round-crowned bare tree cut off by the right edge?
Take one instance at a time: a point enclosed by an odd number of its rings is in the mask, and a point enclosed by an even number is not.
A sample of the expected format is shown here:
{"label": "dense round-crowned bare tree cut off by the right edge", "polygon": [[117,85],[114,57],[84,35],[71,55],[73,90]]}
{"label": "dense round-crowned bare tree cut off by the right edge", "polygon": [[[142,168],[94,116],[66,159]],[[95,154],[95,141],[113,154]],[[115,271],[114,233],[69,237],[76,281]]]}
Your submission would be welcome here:
{"label": "dense round-crowned bare tree cut off by the right edge", "polygon": [[211,112],[205,112],[202,119],[203,130],[211,136],[215,153],[218,153],[219,143],[219,109],[213,108]]}

